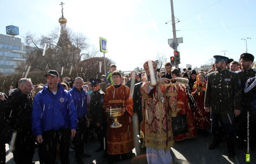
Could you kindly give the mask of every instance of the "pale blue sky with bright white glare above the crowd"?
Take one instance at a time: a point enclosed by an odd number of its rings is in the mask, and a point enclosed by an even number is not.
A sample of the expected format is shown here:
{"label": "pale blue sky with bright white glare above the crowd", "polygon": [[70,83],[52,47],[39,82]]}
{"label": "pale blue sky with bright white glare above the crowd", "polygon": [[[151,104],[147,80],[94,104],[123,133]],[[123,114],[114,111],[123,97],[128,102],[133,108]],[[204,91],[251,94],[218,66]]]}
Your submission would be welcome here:
{"label": "pale blue sky with bright white glare above the crowd", "polygon": [[[183,37],[178,47],[180,67],[211,63],[214,55],[238,60],[245,52],[256,54],[255,0],[173,0],[176,36]],[[27,32],[49,34],[59,26],[61,1],[5,0],[1,2],[0,33],[5,26],[18,26],[20,37]],[[170,61],[173,38],[170,0],[64,0],[67,26],[83,33],[99,48],[99,37],[107,39],[108,53],[117,69],[126,71],[143,67],[148,59],[164,54]],[[170,21],[171,22],[171,21]],[[100,53],[99,56],[103,56]]]}

